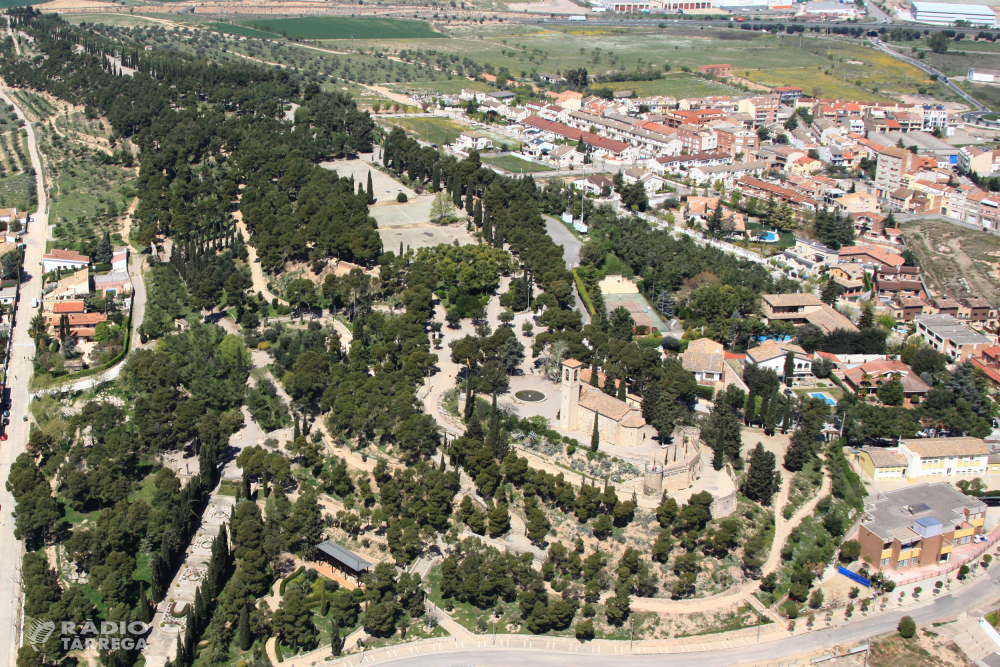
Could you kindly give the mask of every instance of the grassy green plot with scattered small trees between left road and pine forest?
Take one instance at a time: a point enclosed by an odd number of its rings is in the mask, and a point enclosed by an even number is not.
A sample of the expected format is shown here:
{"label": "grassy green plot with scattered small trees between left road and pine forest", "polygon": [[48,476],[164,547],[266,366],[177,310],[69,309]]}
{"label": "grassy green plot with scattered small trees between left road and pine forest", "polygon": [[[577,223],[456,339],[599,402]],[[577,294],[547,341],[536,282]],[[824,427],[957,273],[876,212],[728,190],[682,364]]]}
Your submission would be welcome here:
{"label": "grassy green plot with scattered small trees between left road and pine forest", "polygon": [[61,112],[38,126],[39,149],[49,175],[50,222],[62,246],[96,245],[105,231],[121,243],[120,218],[130,199],[123,190],[135,178],[136,166],[122,163],[122,145],[112,148],[110,126],[87,118],[80,109]]}

